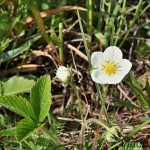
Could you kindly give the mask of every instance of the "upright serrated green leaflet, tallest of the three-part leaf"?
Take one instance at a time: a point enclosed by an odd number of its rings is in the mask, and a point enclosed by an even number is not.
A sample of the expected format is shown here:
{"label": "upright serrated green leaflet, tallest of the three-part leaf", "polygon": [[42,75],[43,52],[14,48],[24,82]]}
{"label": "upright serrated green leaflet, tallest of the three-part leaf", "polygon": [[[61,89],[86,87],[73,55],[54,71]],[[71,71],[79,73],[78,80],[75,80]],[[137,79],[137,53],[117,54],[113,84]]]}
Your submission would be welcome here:
{"label": "upright serrated green leaflet, tallest of the three-part leaf", "polygon": [[30,94],[30,102],[36,119],[42,122],[50,109],[51,104],[51,80],[49,75],[38,79]]}

